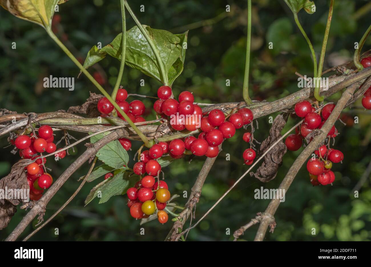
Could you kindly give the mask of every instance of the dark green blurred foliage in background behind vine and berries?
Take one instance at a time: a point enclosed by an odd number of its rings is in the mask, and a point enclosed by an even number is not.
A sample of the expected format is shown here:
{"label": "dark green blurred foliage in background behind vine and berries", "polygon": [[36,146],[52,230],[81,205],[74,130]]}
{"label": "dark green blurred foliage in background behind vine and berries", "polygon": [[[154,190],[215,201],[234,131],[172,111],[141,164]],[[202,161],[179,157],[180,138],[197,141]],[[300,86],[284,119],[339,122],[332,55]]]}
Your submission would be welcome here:
{"label": "dark green blurred foliage in background behind vine and berries", "polygon": [[[316,12],[308,15],[301,11],[299,20],[313,42],[316,52],[322,45],[329,1],[315,1]],[[368,1],[338,0],[335,3],[334,16],[331,23],[327,45],[324,70],[352,59],[354,42],[361,39],[370,23],[370,11],[365,16],[358,16]],[[242,84],[244,74],[244,58],[246,46],[247,10],[246,1],[228,1],[232,12],[220,18],[225,12],[225,1],[214,0],[212,3],[196,0],[186,1],[129,1],[132,10],[140,22],[152,28],[165,29],[173,33],[181,33],[190,27],[190,23],[214,18],[211,23],[202,23],[192,27],[188,35],[188,49],[184,71],[174,83],[174,95],[183,90],[192,91],[195,101],[201,103],[222,103],[242,100]],[[139,12],[144,4],[145,12]],[[89,49],[98,42],[106,45],[121,30],[121,14],[119,1],[70,0],[59,7],[60,25],[68,48],[82,60]],[[218,16],[219,15],[219,16]],[[89,96],[89,91],[98,93],[83,75],[77,79],[78,68],[63,54],[56,44],[37,25],[17,19],[5,10],[0,10],[0,107],[18,113],[51,112],[67,110],[70,106],[82,104]],[[127,14],[127,28],[134,26]],[[193,25],[192,25],[193,26]],[[194,29],[193,29],[194,28]],[[16,49],[12,49],[16,42]],[[273,42],[273,49],[268,49]],[[370,49],[368,38],[364,51]],[[110,93],[116,81],[119,61],[106,57],[100,63],[105,72],[104,87]],[[250,96],[256,100],[273,101],[298,90],[295,71],[308,76],[313,75],[313,64],[308,46],[297,26],[292,13],[283,1],[253,0],[252,56],[250,63]],[[91,68],[89,71],[99,70]],[[331,75],[334,73],[328,73]],[[43,77],[75,77],[75,90],[45,89]],[[145,86],[140,87],[140,79]],[[226,79],[231,86],[226,86]],[[160,85],[137,70],[125,67],[122,86],[129,93],[155,96]],[[341,96],[335,94],[329,101],[336,101]],[[133,100],[131,97],[129,100]],[[142,100],[142,99],[141,99]],[[153,101],[144,99],[148,114],[147,119],[154,119],[151,112]],[[357,108],[358,107],[358,108]],[[347,109],[344,119],[348,125],[336,122],[340,133],[336,137],[335,148],[340,149],[345,159],[342,164],[334,164],[336,180],[333,186],[312,187],[308,172],[303,167],[296,176],[286,201],[281,203],[275,215],[277,227],[274,234],[267,234],[266,240],[370,240],[371,238],[371,190],[370,179],[364,183],[359,197],[354,198],[352,189],[365,171],[371,160],[370,113],[360,109],[357,102],[353,109]],[[272,114],[273,118],[277,114]],[[354,122],[359,117],[359,123]],[[255,137],[263,141],[269,133],[269,118],[259,118],[259,129],[255,129]],[[283,132],[290,129],[297,120],[290,117]],[[197,204],[196,217],[200,218],[217,199],[246,171],[243,165],[242,152],[248,145],[242,141],[244,130],[227,140],[223,151],[207,177],[200,202]],[[61,135],[58,133],[56,140]],[[75,138],[82,133],[70,132]],[[1,147],[7,146],[7,136],[0,139]],[[130,151],[130,163],[140,142],[133,142]],[[78,155],[85,150],[79,144]],[[10,166],[19,158],[10,154],[12,148],[3,148],[0,155],[0,174],[5,176]],[[283,158],[283,165],[274,180],[263,184],[256,178],[247,175],[235,189],[188,235],[188,240],[232,240],[233,231],[246,224],[257,212],[263,212],[269,200],[254,199],[254,189],[277,188],[290,168],[299,151],[288,152]],[[230,161],[225,154],[229,153]],[[47,166],[52,168],[55,179],[78,157],[68,156],[55,163],[48,158]],[[188,163],[187,158],[177,160],[164,168],[165,179],[172,194],[180,194],[178,204],[184,205],[183,191],[190,189],[202,167],[204,158],[195,158]],[[130,167],[129,166],[129,167]],[[85,163],[62,189],[53,197],[45,213],[49,218],[71,196],[79,185],[78,177],[88,171]],[[163,240],[172,226],[169,220],[165,225],[157,221],[139,226],[132,219],[126,206],[127,197],[115,196],[108,202],[99,204],[95,199],[84,207],[84,200],[95,184],[102,178],[86,183],[75,199],[45,228],[30,240],[126,240],[153,241]],[[26,212],[18,210],[9,226],[0,231],[0,239],[4,239],[20,222]],[[35,223],[32,223],[35,225]],[[25,237],[34,228],[29,225],[22,235]],[[188,222],[187,224],[188,225]],[[145,235],[139,229],[145,228]],[[59,235],[54,234],[59,228]],[[231,235],[226,235],[230,228]],[[316,234],[312,235],[312,228]],[[243,239],[252,240],[257,226],[247,230]]]}

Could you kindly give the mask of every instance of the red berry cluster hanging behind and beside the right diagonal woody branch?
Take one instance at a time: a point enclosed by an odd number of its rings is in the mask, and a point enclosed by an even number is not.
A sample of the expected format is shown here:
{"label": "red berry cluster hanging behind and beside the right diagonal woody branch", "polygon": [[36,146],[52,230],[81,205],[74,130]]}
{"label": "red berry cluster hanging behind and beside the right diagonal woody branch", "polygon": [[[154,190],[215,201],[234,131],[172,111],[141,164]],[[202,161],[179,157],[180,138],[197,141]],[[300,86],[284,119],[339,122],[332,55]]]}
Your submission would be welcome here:
{"label": "red berry cluster hanging behind and beside the right diagonal woody branch", "polygon": [[[315,112],[315,108],[308,101],[302,101],[295,104],[295,113],[300,118],[304,118],[304,123],[296,129],[296,133],[289,135],[285,144],[290,151],[296,151],[302,147],[303,138],[305,138],[314,129],[320,129],[324,125],[325,121],[330,116],[332,110],[334,110],[334,104],[327,104],[323,107],[321,115]],[[335,138],[337,135],[335,125],[332,125],[328,132],[328,138]],[[310,139],[312,141],[313,138]],[[316,158],[311,158],[306,168],[311,178],[311,183],[314,186],[319,184],[326,185],[331,184],[335,180],[335,174],[331,171],[332,163],[339,163],[344,159],[344,155],[341,151],[327,148],[322,145],[314,151]]]}

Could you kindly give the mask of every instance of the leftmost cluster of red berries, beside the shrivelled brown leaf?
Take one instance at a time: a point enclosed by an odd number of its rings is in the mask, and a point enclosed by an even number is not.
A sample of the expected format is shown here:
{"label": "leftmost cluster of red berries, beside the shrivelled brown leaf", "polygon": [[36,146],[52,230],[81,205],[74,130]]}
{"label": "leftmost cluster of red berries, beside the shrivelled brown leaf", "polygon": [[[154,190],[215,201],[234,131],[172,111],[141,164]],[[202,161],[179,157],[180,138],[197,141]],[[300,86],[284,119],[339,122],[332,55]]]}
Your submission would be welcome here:
{"label": "leftmost cluster of red berries, beside the shrivelled brown leaf", "polygon": [[[53,141],[53,129],[49,125],[43,125],[38,130],[38,136],[35,136],[33,133],[30,133],[30,135],[19,135],[11,143],[19,149],[21,158],[34,160],[38,157],[38,153],[46,152],[50,154],[56,151],[57,147]],[[66,151],[58,152],[57,155],[59,159],[62,159],[66,156]],[[45,163],[46,158],[39,158],[25,167],[31,200],[39,200],[44,190],[53,183],[52,176],[46,173]]]}

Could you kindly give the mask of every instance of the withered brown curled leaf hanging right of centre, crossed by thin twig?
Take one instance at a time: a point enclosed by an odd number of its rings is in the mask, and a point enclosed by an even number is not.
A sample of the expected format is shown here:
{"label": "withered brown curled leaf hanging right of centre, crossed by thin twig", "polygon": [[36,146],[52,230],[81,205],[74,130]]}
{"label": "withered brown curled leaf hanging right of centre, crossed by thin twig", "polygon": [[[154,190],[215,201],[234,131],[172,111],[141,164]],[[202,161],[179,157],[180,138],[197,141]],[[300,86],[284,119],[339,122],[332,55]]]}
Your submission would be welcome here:
{"label": "withered brown curled leaf hanging right of centre, crossed by thin twig", "polygon": [[[280,137],[281,131],[286,124],[289,113],[279,114],[273,120],[272,128],[270,128],[269,136],[260,145],[258,154],[262,155],[270,148]],[[256,173],[251,172],[251,176],[255,176],[262,182],[269,182],[276,177],[278,168],[282,164],[282,157],[287,151],[286,145],[282,140],[275,145],[265,156],[262,165],[256,170]]]}

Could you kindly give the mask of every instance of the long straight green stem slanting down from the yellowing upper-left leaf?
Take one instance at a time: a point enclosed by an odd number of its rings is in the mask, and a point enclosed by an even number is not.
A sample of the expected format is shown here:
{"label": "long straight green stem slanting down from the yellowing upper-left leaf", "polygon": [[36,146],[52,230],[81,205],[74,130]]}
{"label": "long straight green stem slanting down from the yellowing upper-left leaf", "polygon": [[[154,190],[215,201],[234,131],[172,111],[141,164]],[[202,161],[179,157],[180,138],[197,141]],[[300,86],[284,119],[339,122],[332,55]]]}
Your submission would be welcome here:
{"label": "long straight green stem slanting down from the yellowing upper-left leaf", "polygon": [[147,137],[138,129],[137,126],[129,119],[128,115],[125,114],[124,111],[118,106],[118,104],[115,102],[115,100],[112,99],[112,97],[106,92],[106,90],[103,89],[103,87],[90,75],[90,73],[80,64],[80,62],[72,55],[72,53],[68,50],[68,48],[63,45],[63,43],[58,39],[57,36],[52,32],[51,29],[46,29],[46,32],[49,34],[50,38],[53,39],[53,41],[56,42],[56,44],[63,50],[63,52],[66,53],[66,55],[73,61],[73,63],[76,64],[76,66],[79,67],[79,69],[88,77],[88,79],[96,86],[96,88],[101,91],[101,93],[107,97],[109,102],[111,102],[116,110],[119,111],[119,113],[125,118],[125,120],[129,123],[129,125],[133,128],[133,130],[137,133],[137,135],[142,139],[144,144],[147,147],[151,146],[151,143],[148,141]]}

